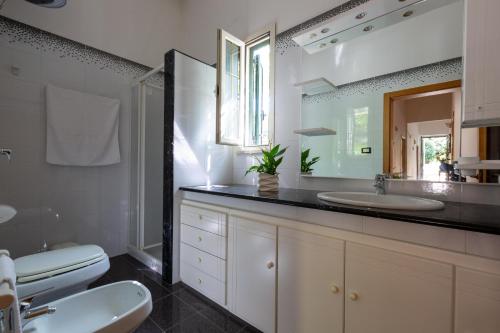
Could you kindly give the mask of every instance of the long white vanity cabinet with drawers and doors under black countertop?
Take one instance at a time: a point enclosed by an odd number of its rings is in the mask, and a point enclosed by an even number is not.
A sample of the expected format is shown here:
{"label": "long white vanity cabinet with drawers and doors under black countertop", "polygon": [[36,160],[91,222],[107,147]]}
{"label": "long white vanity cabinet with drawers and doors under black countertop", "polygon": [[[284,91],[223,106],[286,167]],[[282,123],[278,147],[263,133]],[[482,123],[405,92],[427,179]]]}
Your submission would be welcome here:
{"label": "long white vanity cabinet with drawers and doors under black countertop", "polygon": [[181,279],[264,333],[500,332],[499,260],[185,202]]}

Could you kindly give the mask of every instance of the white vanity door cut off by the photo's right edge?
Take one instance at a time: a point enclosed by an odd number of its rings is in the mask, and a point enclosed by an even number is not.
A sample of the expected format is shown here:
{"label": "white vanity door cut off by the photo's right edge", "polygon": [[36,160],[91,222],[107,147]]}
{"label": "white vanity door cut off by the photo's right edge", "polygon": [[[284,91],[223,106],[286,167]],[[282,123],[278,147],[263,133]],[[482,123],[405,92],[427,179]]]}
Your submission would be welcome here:
{"label": "white vanity door cut off by the photo's right edge", "polygon": [[500,331],[500,276],[457,267],[456,333]]}

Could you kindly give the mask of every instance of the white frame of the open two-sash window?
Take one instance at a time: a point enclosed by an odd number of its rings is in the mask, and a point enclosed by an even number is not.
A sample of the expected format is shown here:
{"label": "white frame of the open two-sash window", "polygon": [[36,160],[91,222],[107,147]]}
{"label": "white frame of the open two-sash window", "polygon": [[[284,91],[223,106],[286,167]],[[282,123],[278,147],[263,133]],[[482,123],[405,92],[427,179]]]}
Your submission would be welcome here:
{"label": "white frame of the open two-sash window", "polygon": [[[274,144],[274,135],[275,135],[275,45],[276,45],[276,24],[270,24],[266,26],[265,28],[261,29],[260,31],[252,34],[249,36],[245,41],[241,41],[234,36],[230,35],[229,33],[219,29],[219,45],[218,45],[218,65],[217,66],[217,144],[223,144],[223,145],[232,145],[232,146],[238,146],[237,153],[239,154],[253,154],[253,153],[260,153],[261,149],[263,147],[268,147],[270,144]],[[248,84],[248,73],[249,73],[249,65],[250,65],[250,59],[249,59],[249,54],[248,48],[253,46],[255,42],[258,40],[269,36],[269,46],[270,46],[270,59],[269,59],[269,65],[270,65],[270,72],[269,72],[269,114],[268,114],[268,137],[269,137],[269,143],[264,144],[264,145],[259,145],[259,146],[246,146],[246,130],[247,130],[247,121],[248,121],[248,110],[249,110],[249,89],[247,88]],[[225,64],[225,40],[229,40],[232,43],[240,46],[243,45],[242,49],[242,54],[243,54],[243,72],[241,77],[241,80],[243,84],[241,84],[241,94],[240,96],[243,96],[242,100],[240,102],[243,103],[242,107],[240,107],[241,115],[240,115],[240,134],[241,138],[238,140],[227,140],[221,137],[220,133],[220,115],[221,115],[221,101],[223,100],[223,89],[221,87],[224,87],[224,64]]]}

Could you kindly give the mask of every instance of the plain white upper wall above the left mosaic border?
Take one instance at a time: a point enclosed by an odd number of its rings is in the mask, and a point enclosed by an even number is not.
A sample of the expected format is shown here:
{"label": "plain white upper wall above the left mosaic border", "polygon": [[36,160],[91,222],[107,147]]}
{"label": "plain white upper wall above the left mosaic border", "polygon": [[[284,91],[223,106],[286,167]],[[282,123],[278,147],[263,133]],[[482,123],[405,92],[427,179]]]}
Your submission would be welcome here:
{"label": "plain white upper wall above the left mosaic border", "polygon": [[0,15],[156,67],[179,47],[179,0],[68,0],[50,9],[7,0]]}

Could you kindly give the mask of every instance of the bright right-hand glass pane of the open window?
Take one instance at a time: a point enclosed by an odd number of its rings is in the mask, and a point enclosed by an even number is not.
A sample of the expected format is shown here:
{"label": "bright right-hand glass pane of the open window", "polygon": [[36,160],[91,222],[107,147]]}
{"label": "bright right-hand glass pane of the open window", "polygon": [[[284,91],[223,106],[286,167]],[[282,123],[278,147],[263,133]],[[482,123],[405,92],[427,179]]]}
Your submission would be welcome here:
{"label": "bright right-hand glass pane of the open window", "polygon": [[246,115],[247,146],[269,144],[270,116],[270,38],[266,36],[248,46],[248,101]]}

